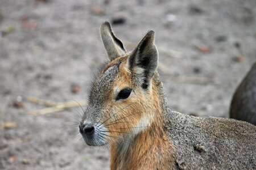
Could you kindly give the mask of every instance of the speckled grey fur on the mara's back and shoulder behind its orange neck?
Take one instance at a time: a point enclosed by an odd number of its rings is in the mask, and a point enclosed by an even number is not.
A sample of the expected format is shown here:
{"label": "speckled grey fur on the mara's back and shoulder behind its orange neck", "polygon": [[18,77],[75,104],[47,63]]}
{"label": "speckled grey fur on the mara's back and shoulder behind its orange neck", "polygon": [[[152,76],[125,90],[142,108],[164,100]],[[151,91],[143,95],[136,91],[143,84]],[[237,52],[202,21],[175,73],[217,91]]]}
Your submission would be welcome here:
{"label": "speckled grey fur on the mara's back and shoulder behind its orange neck", "polygon": [[[159,75],[155,80],[160,82]],[[162,96],[164,129],[176,150],[176,169],[256,169],[256,126],[228,118],[172,111]],[[174,168],[175,169],[175,168]]]}

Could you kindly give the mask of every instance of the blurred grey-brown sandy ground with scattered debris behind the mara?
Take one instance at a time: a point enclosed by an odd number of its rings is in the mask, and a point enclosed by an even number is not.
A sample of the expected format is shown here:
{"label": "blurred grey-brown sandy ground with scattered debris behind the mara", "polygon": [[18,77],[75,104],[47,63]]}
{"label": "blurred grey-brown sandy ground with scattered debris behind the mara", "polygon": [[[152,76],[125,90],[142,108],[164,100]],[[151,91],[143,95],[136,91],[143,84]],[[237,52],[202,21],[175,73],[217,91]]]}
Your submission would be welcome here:
{"label": "blurred grey-brown sandy ground with scattered debris behind the mara", "polygon": [[[93,73],[108,61],[105,20],[126,49],[155,31],[175,111],[229,117],[256,61],[255,19],[255,0],[1,0],[0,169],[109,169],[108,149],[86,146],[77,127]],[[74,101],[82,108],[56,109]]]}

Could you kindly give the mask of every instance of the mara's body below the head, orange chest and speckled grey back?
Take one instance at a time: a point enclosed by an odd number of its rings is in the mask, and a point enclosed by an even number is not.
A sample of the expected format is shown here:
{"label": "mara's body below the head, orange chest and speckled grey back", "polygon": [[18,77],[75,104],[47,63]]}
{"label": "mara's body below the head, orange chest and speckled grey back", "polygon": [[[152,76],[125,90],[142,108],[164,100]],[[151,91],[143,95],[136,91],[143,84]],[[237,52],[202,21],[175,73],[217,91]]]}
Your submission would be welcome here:
{"label": "mara's body below the head, orange chest and speckled grey back", "polygon": [[253,125],[170,114],[163,134],[148,129],[114,145],[112,169],[256,169]]}

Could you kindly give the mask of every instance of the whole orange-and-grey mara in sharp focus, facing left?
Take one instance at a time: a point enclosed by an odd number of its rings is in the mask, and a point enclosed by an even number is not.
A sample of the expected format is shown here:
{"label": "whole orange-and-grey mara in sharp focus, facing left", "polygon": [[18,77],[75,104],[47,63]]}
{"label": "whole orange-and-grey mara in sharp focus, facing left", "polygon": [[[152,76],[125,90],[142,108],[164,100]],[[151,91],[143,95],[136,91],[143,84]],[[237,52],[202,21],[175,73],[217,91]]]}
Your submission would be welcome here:
{"label": "whole orange-and-grey mara in sharp focus, facing left", "polygon": [[255,126],[167,107],[153,31],[130,53],[107,22],[101,37],[110,62],[93,82],[79,128],[88,145],[110,147],[111,169],[256,168]]}

